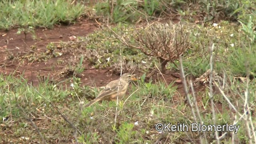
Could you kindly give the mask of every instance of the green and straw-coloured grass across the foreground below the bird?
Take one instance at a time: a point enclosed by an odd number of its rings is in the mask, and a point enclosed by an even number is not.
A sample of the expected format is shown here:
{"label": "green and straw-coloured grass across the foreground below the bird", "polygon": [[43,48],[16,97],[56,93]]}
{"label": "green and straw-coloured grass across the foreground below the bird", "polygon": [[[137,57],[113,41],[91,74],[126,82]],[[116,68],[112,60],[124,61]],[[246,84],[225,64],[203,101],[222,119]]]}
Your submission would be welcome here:
{"label": "green and straw-coloured grass across the foreground below the bird", "polygon": [[[35,127],[32,126],[28,120],[32,119],[39,132],[43,135],[48,143],[61,140],[62,142],[74,142],[75,132],[50,104],[54,104],[58,110],[66,116],[68,121],[72,122],[82,135],[77,134],[78,142],[80,143],[94,143],[101,141],[108,143],[110,140],[116,143],[152,143],[160,137],[154,126],[155,124],[168,123],[184,123],[191,124],[194,122],[191,109],[184,105],[182,97],[176,91],[176,87],[170,84],[166,87],[164,83],[153,84],[152,81],[147,83],[144,81],[144,76],[141,81],[132,84],[129,90],[130,96],[128,100],[124,99],[119,102],[116,111],[115,102],[102,102],[100,105],[95,104],[88,108],[81,108],[79,101],[88,102],[88,96],[94,97],[98,90],[91,90],[87,87],[80,86],[79,78],[73,79],[73,88],[64,88],[58,84],[50,84],[47,81],[40,83],[38,86],[31,86],[27,84],[23,78],[15,79],[11,77],[1,78],[0,83],[0,118],[8,118],[7,121],[2,122],[0,141],[2,143],[10,142],[26,142],[41,141]],[[236,90],[236,86],[240,89]],[[245,90],[246,83],[234,81],[229,90],[236,90],[238,96],[230,97],[238,112],[242,113],[242,91]],[[255,82],[249,84],[250,99],[249,103],[255,102],[256,90]],[[205,94],[202,96],[202,94]],[[212,114],[210,109],[210,98],[207,93],[201,91],[196,93],[197,96],[202,96],[202,106],[199,110],[206,114],[201,114],[204,124],[213,124]],[[178,97],[177,97],[178,96]],[[173,99],[174,98],[174,99]],[[233,120],[230,118],[230,110],[224,108],[228,107],[226,100],[221,94],[214,96],[215,102],[223,104],[223,112],[216,111],[216,124],[232,124]],[[201,105],[201,104],[200,104]],[[114,117],[117,114],[115,122]],[[12,116],[12,117],[10,117]],[[239,116],[238,116],[239,117]],[[10,122],[13,120],[14,122]],[[255,121],[255,118],[252,117]],[[136,124],[138,123],[138,124]],[[238,120],[240,129],[236,136],[240,142],[246,142],[246,126],[244,122]],[[13,133],[12,133],[13,132]],[[7,135],[8,134],[8,135]],[[211,137],[212,132],[207,132],[207,137]],[[194,133],[191,132],[172,132],[168,137],[168,142],[186,142],[192,138],[198,140]],[[28,138],[25,140],[24,138]],[[209,140],[208,140],[209,141]],[[222,142],[231,142],[230,136],[226,136]]]}

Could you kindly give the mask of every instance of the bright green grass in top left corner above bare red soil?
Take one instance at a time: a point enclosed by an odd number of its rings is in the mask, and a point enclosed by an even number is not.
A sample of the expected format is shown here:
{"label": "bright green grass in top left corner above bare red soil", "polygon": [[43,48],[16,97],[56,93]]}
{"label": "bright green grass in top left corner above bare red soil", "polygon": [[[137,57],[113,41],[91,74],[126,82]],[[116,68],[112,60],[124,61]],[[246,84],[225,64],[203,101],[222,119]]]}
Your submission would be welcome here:
{"label": "bright green grass in top left corner above bare red soil", "polygon": [[0,2],[0,29],[21,27],[52,28],[54,24],[72,23],[81,16],[85,7],[70,4],[71,0],[3,0]]}

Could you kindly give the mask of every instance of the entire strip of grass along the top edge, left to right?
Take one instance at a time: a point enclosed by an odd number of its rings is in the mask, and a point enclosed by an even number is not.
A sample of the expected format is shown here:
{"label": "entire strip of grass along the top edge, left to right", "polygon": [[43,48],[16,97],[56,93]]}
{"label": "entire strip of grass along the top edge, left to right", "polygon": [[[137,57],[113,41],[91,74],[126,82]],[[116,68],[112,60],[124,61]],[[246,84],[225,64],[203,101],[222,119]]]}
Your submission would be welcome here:
{"label": "entire strip of grass along the top edge, left to right", "polygon": [[[110,0],[111,1],[111,0]],[[249,16],[254,20],[255,2],[246,0],[214,0],[214,1],[187,1],[187,0],[117,0],[113,6],[102,0],[94,6],[85,7],[79,1],[71,4],[71,0],[31,1],[20,0],[11,2],[4,0],[0,3],[1,13],[0,29],[22,27],[52,27],[54,24],[69,24],[75,22],[82,14],[88,16],[109,17],[111,22],[135,23],[145,19],[157,17],[165,18],[170,12],[179,14],[190,22],[219,22],[229,20],[247,22]],[[93,18],[93,17],[92,17]]]}

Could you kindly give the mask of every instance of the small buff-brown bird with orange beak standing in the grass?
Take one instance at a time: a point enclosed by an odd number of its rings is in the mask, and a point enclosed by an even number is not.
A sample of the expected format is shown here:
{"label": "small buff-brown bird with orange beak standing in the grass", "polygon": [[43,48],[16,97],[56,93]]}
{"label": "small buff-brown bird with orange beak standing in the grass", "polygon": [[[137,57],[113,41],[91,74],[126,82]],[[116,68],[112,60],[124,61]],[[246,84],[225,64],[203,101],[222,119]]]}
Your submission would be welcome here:
{"label": "small buff-brown bird with orange beak standing in the grass", "polygon": [[106,87],[100,92],[100,94],[98,94],[98,96],[94,100],[88,102],[85,107],[91,106],[92,104],[95,104],[96,102],[101,100],[114,101],[117,98],[122,98],[127,91],[129,83],[135,80],[138,80],[135,74],[122,74],[120,79],[113,80],[108,83]]}

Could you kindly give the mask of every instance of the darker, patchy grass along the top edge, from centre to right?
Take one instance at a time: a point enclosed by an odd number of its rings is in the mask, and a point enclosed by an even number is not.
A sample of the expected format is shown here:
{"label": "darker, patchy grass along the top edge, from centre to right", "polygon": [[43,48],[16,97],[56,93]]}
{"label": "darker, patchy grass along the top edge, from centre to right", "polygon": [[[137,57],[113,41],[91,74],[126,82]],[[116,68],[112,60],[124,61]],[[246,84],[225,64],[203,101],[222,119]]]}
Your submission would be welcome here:
{"label": "darker, patchy grass along the top edge, from centre to right", "polygon": [[243,22],[254,16],[254,1],[250,0],[107,0],[95,6],[97,16],[110,18],[111,22],[139,22],[141,19],[165,18],[179,14],[190,22],[219,22],[220,20]]}

